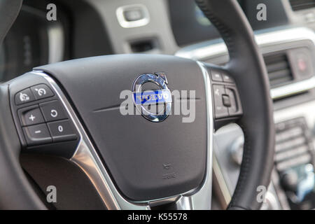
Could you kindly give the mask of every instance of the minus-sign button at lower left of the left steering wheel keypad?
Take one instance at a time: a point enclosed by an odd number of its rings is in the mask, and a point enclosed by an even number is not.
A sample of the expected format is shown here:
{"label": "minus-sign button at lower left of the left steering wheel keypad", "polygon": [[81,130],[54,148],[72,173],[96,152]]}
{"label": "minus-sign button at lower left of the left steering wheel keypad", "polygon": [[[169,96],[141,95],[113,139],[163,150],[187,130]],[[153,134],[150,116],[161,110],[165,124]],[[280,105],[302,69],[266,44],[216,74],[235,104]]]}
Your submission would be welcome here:
{"label": "minus-sign button at lower left of the left steering wheel keypad", "polygon": [[23,127],[23,132],[28,146],[52,142],[52,138],[50,137],[46,124]]}

